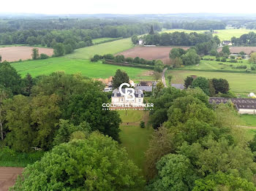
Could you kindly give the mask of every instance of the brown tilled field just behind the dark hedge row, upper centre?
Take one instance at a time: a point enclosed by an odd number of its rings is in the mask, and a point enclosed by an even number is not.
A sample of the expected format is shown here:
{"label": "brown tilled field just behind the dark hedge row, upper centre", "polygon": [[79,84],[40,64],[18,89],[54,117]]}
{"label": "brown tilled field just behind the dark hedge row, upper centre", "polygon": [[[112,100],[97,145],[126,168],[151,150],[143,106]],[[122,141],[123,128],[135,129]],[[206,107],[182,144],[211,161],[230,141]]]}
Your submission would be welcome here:
{"label": "brown tilled field just behind the dark hedge row, upper centre", "polygon": [[[164,63],[169,63],[169,52],[174,47],[134,47],[124,52],[118,53],[118,55],[124,55],[125,58],[140,57],[146,60],[162,60]],[[181,47],[187,50],[189,47]]]}

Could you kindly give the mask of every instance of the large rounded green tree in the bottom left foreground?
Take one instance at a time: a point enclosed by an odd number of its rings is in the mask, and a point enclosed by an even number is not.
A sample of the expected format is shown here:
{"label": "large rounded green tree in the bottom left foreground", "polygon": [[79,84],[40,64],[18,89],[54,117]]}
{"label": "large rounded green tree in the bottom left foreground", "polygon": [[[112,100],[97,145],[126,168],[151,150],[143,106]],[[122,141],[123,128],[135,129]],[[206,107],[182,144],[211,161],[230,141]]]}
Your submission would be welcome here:
{"label": "large rounded green tree in the bottom left foreground", "polygon": [[25,168],[11,190],[133,190],[143,178],[125,149],[99,133],[60,144]]}

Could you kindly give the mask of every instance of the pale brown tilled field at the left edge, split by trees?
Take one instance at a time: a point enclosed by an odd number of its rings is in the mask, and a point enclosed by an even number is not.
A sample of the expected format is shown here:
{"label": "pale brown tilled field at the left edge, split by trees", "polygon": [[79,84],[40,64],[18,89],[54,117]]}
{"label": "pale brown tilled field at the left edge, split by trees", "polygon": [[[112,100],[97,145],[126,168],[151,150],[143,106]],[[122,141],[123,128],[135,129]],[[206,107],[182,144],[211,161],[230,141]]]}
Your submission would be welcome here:
{"label": "pale brown tilled field at the left edge, split by trees", "polygon": [[[19,61],[28,60],[32,58],[32,49],[34,47],[0,47],[1,61]],[[51,48],[38,48],[39,54],[44,53],[46,55],[53,55],[53,49]]]}

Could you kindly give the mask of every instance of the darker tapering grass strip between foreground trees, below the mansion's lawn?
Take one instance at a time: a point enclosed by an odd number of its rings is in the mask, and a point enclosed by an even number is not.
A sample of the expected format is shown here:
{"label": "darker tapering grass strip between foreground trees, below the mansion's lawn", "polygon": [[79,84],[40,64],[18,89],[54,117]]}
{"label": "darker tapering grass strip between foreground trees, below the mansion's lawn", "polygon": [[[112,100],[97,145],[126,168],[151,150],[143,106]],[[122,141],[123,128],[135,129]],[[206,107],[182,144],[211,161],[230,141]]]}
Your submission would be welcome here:
{"label": "darker tapering grass strip between foreground trees, below the mansion's lawn", "polygon": [[121,145],[127,149],[129,158],[132,159],[145,175],[145,152],[148,141],[153,133],[153,128],[140,128],[132,125],[121,125]]}

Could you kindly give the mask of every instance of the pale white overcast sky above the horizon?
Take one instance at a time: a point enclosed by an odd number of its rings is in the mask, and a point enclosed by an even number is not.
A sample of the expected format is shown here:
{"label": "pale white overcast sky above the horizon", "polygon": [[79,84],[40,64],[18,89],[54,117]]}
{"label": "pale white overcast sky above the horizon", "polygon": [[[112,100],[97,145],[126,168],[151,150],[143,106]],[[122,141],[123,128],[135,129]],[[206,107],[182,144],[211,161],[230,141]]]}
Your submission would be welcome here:
{"label": "pale white overcast sky above the horizon", "polygon": [[256,13],[256,0],[3,0],[0,12],[43,14]]}

